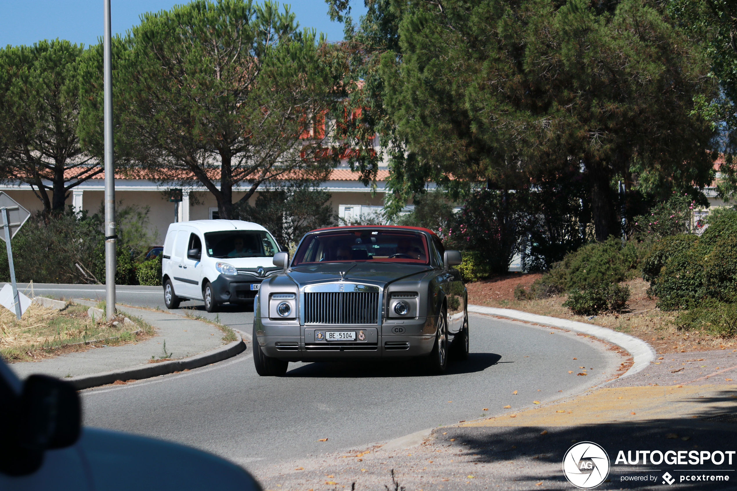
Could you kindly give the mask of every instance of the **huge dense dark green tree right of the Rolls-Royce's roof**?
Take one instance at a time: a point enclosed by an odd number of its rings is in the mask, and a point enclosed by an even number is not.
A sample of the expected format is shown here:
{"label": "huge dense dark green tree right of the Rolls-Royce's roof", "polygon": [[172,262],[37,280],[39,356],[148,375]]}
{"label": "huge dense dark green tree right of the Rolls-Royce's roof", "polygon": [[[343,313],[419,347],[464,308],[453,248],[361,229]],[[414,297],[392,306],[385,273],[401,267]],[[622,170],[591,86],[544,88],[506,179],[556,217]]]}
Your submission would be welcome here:
{"label": "huge dense dark green tree right of the Rolls-Royce's roof", "polygon": [[[336,12],[342,4],[331,2]],[[380,110],[389,186],[403,204],[447,187],[527,180],[583,166],[595,238],[618,233],[612,181],[674,188],[713,178],[710,121],[694,97],[716,93],[699,46],[660,4],[639,0],[368,2],[353,29],[364,93]],[[352,24],[346,25],[351,31]],[[378,42],[382,40],[382,42]],[[377,70],[377,58],[380,68]],[[381,75],[380,81],[371,77]],[[371,77],[369,77],[371,75]]]}

